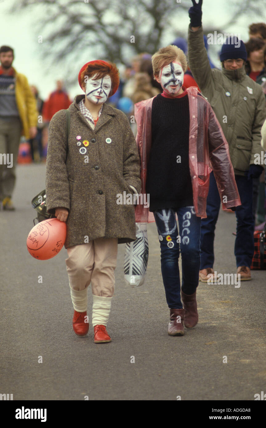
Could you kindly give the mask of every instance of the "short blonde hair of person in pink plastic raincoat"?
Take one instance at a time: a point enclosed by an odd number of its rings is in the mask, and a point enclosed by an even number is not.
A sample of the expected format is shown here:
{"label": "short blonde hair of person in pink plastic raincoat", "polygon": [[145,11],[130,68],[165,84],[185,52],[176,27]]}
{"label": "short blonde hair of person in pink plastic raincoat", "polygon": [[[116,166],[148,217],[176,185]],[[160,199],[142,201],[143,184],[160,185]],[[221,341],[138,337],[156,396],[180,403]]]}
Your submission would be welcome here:
{"label": "short blonde hair of person in pink plastic raincoat", "polygon": [[187,60],[182,49],[174,45],[168,45],[166,48],[160,48],[158,52],[151,57],[154,76],[158,76],[160,70],[170,62],[177,60],[182,65],[183,71],[186,71]]}

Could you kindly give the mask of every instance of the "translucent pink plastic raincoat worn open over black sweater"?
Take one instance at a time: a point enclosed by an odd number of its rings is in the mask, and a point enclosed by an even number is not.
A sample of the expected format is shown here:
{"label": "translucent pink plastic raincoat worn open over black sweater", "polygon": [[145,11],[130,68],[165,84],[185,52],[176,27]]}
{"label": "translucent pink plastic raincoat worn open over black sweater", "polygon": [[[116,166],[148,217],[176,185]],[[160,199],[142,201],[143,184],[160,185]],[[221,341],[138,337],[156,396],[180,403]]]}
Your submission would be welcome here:
{"label": "translucent pink plastic raincoat worn open over black sweater", "polygon": [[[189,169],[192,181],[193,203],[198,217],[206,218],[206,199],[209,191],[210,172],[216,178],[222,208],[241,205],[228,142],[208,101],[198,95],[194,86],[187,88],[189,97]],[[151,150],[151,106],[153,98],[135,104],[137,122],[136,143],[141,159],[141,193],[146,193],[146,177]],[[210,167],[211,165],[211,167]],[[142,199],[145,200],[145,199]],[[154,221],[153,213],[145,205],[135,206],[137,223]]]}

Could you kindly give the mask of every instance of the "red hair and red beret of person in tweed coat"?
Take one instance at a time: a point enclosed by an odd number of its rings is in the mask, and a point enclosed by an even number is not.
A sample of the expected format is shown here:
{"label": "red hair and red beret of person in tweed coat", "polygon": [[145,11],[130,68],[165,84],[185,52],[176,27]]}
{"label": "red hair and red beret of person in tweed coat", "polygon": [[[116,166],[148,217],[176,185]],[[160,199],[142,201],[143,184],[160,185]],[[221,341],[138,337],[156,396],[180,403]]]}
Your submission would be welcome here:
{"label": "red hair and red beret of person in tweed coat", "polygon": [[112,88],[109,93],[109,97],[114,95],[119,85],[119,71],[116,65],[112,64],[112,62],[102,61],[101,59],[86,62],[79,72],[79,84],[81,89],[83,89],[82,85],[85,84],[85,76],[90,78],[94,74],[96,74],[95,79],[101,79],[102,77],[106,76],[106,74],[109,74],[112,82]]}

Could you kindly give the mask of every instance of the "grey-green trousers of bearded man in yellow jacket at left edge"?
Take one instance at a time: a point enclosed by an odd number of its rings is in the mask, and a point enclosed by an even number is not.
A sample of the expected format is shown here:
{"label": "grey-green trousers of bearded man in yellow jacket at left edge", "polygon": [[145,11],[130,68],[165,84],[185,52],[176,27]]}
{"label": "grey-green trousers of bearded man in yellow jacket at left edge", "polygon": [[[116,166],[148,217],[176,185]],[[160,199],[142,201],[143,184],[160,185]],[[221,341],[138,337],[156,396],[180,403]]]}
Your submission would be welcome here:
{"label": "grey-green trousers of bearded man in yellow jacket at left edge", "polygon": [[0,200],[11,197],[15,187],[21,128],[19,117],[0,118]]}

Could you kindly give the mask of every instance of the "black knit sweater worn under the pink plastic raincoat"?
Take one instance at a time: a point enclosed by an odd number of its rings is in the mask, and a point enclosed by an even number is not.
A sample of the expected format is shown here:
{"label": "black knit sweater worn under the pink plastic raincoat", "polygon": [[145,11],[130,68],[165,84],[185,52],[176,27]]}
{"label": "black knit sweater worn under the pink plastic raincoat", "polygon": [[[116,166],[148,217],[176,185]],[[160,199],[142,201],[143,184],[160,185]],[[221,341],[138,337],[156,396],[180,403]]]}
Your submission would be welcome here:
{"label": "black knit sweater worn under the pink plastic raincoat", "polygon": [[189,99],[154,98],[146,191],[150,211],[193,205],[189,172]]}

